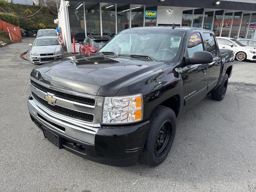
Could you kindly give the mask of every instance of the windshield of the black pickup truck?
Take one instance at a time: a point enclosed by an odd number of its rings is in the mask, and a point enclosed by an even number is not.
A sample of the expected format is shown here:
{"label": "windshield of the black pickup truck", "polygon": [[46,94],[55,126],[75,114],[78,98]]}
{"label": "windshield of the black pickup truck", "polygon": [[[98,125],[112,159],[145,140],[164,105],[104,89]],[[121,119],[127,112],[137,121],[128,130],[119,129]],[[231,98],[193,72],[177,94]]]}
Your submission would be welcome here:
{"label": "windshield of the black pickup truck", "polygon": [[146,55],[157,61],[170,61],[178,57],[177,53],[183,34],[184,32],[173,30],[133,28],[120,32],[99,52],[114,52],[117,55]]}

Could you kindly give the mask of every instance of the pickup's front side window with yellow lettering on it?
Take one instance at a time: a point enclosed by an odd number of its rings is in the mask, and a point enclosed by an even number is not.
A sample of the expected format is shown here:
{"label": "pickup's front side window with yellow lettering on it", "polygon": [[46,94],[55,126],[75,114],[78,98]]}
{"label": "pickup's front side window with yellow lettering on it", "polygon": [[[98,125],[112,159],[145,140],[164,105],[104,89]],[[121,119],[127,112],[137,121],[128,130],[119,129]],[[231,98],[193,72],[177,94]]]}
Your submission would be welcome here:
{"label": "pickup's front side window with yellow lettering on it", "polygon": [[188,41],[187,56],[192,57],[196,51],[203,51],[202,37],[199,32],[193,33]]}

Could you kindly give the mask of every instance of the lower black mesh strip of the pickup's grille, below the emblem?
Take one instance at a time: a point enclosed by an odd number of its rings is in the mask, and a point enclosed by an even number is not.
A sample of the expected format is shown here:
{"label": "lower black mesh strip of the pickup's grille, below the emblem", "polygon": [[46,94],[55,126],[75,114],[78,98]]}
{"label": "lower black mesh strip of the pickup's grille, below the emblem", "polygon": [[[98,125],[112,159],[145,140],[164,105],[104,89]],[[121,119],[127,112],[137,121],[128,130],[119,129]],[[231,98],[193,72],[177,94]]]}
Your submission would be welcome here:
{"label": "lower black mesh strip of the pickup's grille, below the emblem", "polygon": [[42,104],[43,106],[45,106],[49,110],[52,110],[52,111],[57,112],[59,114],[69,116],[69,117],[72,117],[72,118],[81,119],[81,120],[84,120],[84,121],[87,121],[87,122],[93,122],[93,120],[94,120],[94,116],[92,114],[78,112],[78,111],[67,109],[67,108],[64,108],[64,107],[61,107],[61,106],[58,106],[58,105],[48,104],[48,102],[46,100],[40,98],[39,96],[37,96],[33,92],[32,92],[32,96],[40,104]]}

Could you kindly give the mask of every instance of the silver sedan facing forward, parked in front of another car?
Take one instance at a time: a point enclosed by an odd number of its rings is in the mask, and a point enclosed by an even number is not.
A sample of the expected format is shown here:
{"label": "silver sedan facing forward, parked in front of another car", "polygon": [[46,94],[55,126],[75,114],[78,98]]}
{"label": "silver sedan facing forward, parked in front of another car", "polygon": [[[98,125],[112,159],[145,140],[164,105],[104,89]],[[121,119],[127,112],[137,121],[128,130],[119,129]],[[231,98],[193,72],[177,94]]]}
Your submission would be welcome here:
{"label": "silver sedan facing forward, parked in front of another car", "polygon": [[64,58],[64,51],[62,49],[62,42],[55,36],[38,37],[30,51],[30,59],[32,63],[42,64],[48,61],[54,61]]}

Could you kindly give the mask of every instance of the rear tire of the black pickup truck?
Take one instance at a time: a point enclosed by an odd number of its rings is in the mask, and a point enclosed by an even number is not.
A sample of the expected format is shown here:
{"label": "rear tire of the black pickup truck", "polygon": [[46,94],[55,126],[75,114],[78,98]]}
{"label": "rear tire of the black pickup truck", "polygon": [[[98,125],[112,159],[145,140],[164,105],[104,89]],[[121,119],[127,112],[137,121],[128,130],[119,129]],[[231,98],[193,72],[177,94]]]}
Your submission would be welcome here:
{"label": "rear tire of the black pickup truck", "polygon": [[219,86],[212,90],[211,97],[213,100],[221,101],[224,99],[228,87],[228,74],[225,73],[223,81]]}

